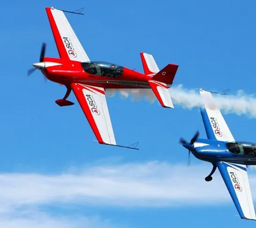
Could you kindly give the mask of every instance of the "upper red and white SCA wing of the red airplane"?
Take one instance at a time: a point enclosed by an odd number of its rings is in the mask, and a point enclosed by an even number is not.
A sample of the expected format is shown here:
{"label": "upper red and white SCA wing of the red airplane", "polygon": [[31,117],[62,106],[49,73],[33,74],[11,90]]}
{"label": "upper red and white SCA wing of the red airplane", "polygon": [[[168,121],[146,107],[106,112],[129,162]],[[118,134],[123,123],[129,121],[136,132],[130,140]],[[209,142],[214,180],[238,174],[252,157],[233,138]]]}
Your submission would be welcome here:
{"label": "upper red and white SCA wing of the red airplane", "polygon": [[90,61],[63,11],[46,8],[54,40],[61,59]]}

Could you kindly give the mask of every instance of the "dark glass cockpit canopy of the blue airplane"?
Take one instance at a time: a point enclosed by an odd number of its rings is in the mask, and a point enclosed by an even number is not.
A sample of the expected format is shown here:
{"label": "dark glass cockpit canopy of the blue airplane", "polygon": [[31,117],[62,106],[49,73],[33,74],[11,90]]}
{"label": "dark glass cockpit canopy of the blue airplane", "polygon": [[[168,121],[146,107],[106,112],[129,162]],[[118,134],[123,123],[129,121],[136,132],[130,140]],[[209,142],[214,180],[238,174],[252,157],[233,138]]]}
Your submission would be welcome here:
{"label": "dark glass cockpit canopy of the blue airplane", "polygon": [[228,150],[233,154],[256,156],[256,143],[229,142],[226,143]]}

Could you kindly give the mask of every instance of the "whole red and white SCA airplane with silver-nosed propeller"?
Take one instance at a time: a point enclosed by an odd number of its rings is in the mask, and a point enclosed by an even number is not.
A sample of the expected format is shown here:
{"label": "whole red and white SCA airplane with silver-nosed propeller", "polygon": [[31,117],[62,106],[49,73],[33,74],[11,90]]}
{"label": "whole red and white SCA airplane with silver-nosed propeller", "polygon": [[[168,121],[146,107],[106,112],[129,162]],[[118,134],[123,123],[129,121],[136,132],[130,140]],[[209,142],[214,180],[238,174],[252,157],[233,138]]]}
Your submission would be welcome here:
{"label": "whole red and white SCA airplane with silver-nosed propeller", "polygon": [[105,89],[151,88],[163,107],[174,108],[168,88],[178,65],[168,64],[159,70],[152,55],[141,53],[142,74],[117,64],[90,61],[63,11],[51,7],[46,12],[60,58],[44,57],[43,43],[40,62],[32,64],[35,68],[28,75],[39,69],[47,79],[65,85],[65,96],[55,101],[60,106],[74,105],[67,100],[73,90],[99,143],[117,146]]}

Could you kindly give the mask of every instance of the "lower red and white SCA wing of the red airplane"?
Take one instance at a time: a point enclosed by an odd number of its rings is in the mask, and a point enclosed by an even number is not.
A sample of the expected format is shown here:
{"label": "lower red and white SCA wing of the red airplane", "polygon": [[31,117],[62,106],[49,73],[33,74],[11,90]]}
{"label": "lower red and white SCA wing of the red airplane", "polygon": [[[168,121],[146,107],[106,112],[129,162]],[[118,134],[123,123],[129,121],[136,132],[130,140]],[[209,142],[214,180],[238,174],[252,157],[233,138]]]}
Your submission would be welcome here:
{"label": "lower red and white SCA wing of the red airplane", "polygon": [[71,88],[101,144],[116,145],[104,88],[71,83]]}

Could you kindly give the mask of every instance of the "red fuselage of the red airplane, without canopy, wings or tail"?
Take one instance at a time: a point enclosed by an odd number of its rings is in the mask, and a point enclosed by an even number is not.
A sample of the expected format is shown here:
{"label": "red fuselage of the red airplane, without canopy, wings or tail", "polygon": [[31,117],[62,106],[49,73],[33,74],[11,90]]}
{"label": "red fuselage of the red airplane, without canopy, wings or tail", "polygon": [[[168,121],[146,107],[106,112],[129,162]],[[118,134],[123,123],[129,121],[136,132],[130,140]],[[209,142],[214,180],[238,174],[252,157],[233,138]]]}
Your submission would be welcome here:
{"label": "red fuselage of the red airplane, without canopy, wings or tail", "polygon": [[46,67],[42,73],[46,78],[59,84],[69,85],[74,83],[92,85],[102,88],[150,88],[148,81],[150,76],[122,68],[122,73],[118,77],[109,77],[97,74],[87,73],[81,65],[81,62],[58,58],[44,58],[44,62],[55,62],[61,65]]}

